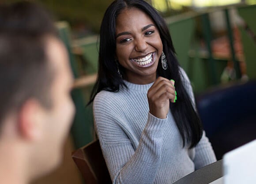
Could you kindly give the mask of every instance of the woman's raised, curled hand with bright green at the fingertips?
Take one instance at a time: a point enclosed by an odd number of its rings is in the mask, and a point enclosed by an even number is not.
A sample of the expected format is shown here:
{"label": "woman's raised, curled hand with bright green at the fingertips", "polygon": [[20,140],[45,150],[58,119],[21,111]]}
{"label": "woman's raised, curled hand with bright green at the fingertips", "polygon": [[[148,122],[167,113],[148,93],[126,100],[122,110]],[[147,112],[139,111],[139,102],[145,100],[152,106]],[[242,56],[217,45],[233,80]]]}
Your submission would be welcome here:
{"label": "woman's raised, curled hand with bright green at the fingertips", "polygon": [[169,101],[175,100],[174,81],[158,77],[147,91],[149,112],[160,119],[165,119],[169,111]]}

